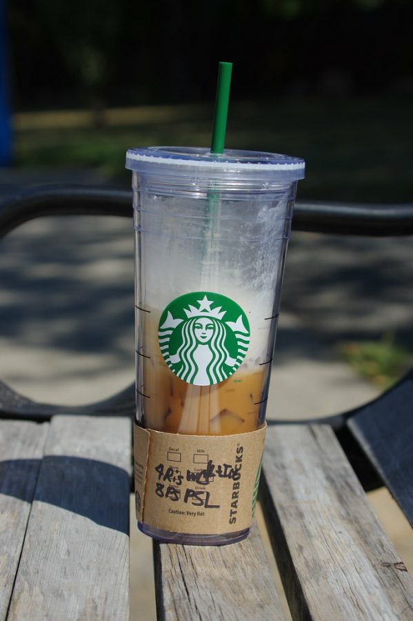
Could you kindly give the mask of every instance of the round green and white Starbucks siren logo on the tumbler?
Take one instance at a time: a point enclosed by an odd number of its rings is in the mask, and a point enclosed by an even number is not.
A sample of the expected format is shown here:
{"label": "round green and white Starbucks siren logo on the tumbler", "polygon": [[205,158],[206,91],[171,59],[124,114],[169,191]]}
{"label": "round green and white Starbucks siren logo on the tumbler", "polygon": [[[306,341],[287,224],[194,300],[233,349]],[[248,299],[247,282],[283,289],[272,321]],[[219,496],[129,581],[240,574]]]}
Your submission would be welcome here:
{"label": "round green and white Starbucks siren logo on the tumbler", "polygon": [[219,384],[240,366],[250,343],[241,306],[219,293],[187,293],[159,320],[159,347],[172,373],[195,386]]}

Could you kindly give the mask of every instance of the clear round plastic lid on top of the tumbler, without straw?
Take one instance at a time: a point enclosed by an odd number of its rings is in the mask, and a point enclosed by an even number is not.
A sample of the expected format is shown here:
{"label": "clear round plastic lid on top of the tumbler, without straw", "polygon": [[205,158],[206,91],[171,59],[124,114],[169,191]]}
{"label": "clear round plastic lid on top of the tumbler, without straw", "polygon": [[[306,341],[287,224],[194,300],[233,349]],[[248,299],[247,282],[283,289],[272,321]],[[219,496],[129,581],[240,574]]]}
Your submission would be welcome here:
{"label": "clear round plastic lid on top of the tumbler, without straw", "polygon": [[296,181],[304,178],[305,162],[265,151],[226,149],[222,154],[208,148],[142,147],[128,149],[126,168],[152,175],[221,177]]}

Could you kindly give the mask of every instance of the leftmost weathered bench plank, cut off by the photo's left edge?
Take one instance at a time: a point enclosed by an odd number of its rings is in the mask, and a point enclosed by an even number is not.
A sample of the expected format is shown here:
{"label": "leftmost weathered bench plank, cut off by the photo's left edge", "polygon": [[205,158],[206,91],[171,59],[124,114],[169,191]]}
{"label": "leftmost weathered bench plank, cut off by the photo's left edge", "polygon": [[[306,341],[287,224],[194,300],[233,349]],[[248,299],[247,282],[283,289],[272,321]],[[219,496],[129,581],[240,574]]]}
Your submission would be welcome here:
{"label": "leftmost weathered bench plank, cut off by the photo's left edge", "polygon": [[0,421],[0,620],[7,615],[47,428]]}

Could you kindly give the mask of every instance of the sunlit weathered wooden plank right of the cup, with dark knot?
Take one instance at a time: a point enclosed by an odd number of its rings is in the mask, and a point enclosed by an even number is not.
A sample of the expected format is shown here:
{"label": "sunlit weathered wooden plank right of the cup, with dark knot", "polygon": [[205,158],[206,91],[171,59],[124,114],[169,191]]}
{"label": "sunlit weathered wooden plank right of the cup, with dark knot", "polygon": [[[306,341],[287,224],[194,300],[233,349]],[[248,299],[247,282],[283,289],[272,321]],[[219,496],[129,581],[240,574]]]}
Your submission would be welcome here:
{"label": "sunlit weathered wooden plank right of the cup, with dark knot", "polygon": [[413,618],[413,581],[328,426],[268,428],[263,504],[292,618]]}

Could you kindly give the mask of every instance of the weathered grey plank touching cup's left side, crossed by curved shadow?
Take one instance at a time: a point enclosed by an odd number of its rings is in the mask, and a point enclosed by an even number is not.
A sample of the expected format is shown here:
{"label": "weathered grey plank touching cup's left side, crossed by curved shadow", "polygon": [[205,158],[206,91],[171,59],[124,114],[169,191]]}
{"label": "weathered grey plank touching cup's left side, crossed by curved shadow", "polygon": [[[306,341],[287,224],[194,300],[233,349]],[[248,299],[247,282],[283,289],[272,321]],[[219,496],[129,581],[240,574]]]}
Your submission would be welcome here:
{"label": "weathered grey plank touching cup's left side, crossed by curved shadow", "polygon": [[9,619],[128,619],[131,424],[50,424]]}

